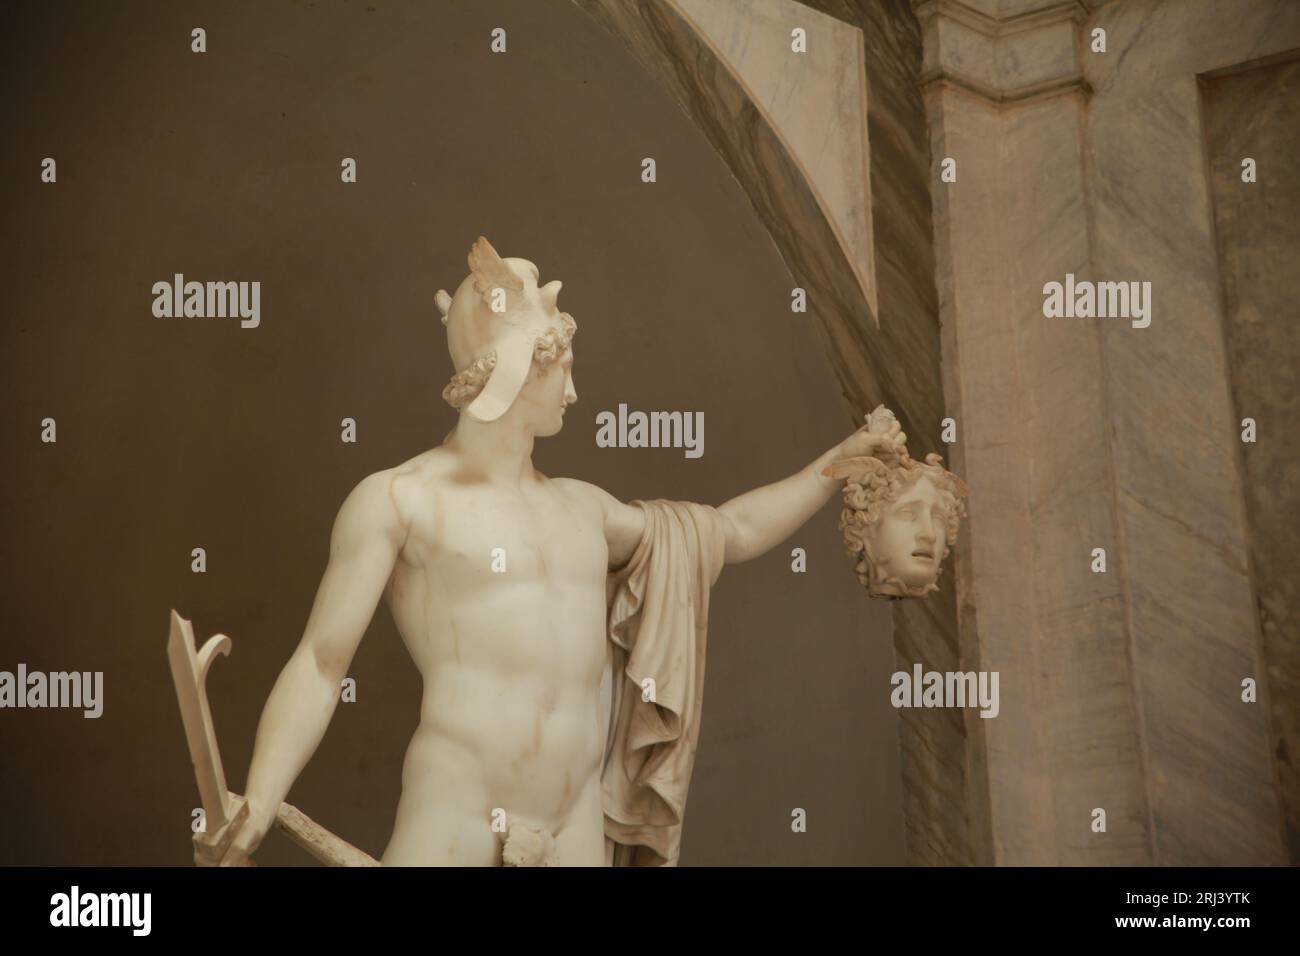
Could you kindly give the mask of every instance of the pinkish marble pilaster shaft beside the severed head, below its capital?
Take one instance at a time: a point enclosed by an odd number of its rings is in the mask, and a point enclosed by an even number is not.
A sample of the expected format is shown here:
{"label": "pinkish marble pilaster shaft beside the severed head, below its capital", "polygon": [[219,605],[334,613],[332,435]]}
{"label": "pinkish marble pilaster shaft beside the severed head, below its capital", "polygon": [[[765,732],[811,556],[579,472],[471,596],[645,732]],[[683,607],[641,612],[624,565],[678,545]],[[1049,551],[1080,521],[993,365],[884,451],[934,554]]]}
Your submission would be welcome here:
{"label": "pinkish marble pilaster shaft beside the severed head, below its capital", "polygon": [[1002,675],[984,736],[993,861],[1010,865],[1149,862],[1121,583],[1089,571],[1092,548],[1117,551],[1101,347],[1095,325],[1041,311],[1041,276],[1088,268],[1080,109],[1076,94],[931,99],[936,157],[958,159],[935,187],[944,380],[979,667]]}

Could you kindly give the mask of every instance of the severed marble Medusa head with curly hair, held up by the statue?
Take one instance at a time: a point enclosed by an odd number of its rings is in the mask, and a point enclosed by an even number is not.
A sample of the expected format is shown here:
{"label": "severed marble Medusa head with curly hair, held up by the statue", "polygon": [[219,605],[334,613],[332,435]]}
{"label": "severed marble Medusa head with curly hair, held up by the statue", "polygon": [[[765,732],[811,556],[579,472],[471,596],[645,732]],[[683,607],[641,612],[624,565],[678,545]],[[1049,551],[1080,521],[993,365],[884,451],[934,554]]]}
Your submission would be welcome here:
{"label": "severed marble Medusa head with curly hair, held up by the statue", "polygon": [[867,431],[879,436],[874,457],[827,468],[827,475],[845,479],[844,544],[872,597],[924,597],[939,589],[942,562],[957,542],[966,484],[936,454],[924,463],[914,460],[907,436],[884,406],[867,416]]}

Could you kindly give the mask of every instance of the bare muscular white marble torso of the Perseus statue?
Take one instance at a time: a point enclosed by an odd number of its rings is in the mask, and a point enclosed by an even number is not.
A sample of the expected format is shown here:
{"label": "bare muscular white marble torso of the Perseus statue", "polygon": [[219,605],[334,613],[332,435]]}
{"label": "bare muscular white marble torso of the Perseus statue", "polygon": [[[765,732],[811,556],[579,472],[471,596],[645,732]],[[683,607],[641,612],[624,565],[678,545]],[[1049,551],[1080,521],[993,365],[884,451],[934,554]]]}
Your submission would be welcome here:
{"label": "bare muscular white marble torso of the Perseus statue", "polygon": [[387,475],[406,540],[385,597],[424,691],[384,862],[499,862],[497,813],[552,834],[562,864],[603,864],[599,499],[488,484],[441,447]]}

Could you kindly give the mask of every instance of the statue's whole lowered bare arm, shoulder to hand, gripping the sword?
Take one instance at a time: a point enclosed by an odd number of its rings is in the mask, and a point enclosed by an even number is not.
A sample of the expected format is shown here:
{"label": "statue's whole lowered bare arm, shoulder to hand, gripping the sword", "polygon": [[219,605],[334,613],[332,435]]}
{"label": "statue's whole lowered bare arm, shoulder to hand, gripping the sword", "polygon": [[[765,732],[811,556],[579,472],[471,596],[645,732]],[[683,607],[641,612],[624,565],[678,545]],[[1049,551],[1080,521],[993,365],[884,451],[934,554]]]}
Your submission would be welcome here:
{"label": "statue's whole lowered bare arm, shoulder to hand, gripping the sword", "polygon": [[391,481],[385,472],[370,475],[352,489],[334,519],[329,564],[307,630],[257,724],[248,770],[248,823],[224,865],[240,862],[260,843],[334,715],[339,685],[403,544]]}

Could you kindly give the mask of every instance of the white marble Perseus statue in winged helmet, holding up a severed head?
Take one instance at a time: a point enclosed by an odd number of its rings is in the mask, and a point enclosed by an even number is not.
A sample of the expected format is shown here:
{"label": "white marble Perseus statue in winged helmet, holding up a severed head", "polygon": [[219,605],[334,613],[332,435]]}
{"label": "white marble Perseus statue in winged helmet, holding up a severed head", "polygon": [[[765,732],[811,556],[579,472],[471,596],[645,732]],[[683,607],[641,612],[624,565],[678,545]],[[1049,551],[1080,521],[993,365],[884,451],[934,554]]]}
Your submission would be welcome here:
{"label": "white marble Perseus statue in winged helmet, holding up a severed head", "polygon": [[[344,499],[302,641],[261,714],[247,793],[229,795],[195,838],[200,864],[244,862],[272,823],[285,826],[283,800],[384,597],[424,679],[385,865],[675,865],[710,588],[723,564],[767,553],[826,505],[833,463],[889,454],[892,437],[868,423],[718,507],[625,503],[547,477],[533,444],[577,401],[577,324],[559,311],[560,282],[542,285],[526,259],[485,238],[468,259],[455,294],[436,295],[455,367],[443,398],[459,420]],[[188,662],[173,659],[178,691],[196,675],[203,698],[222,640],[195,656],[188,637]],[[220,762],[216,778],[200,769],[214,741],[196,740],[211,719],[191,697],[182,692],[200,790],[225,800]]]}

